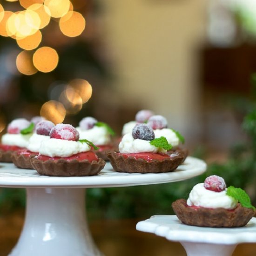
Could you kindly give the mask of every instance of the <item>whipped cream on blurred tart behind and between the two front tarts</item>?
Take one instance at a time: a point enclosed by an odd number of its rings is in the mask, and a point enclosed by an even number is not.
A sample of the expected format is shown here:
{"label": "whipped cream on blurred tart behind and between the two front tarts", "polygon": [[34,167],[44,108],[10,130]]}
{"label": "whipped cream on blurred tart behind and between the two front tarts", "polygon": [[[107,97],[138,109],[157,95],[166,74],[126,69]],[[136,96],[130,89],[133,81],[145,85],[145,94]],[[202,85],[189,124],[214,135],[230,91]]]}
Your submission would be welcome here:
{"label": "whipped cream on blurred tart behind and between the two front tarts", "polygon": [[83,130],[81,127],[76,128],[80,134],[79,139],[87,139],[94,143],[94,145],[107,145],[111,141],[111,136],[106,127],[94,126],[91,129]]}

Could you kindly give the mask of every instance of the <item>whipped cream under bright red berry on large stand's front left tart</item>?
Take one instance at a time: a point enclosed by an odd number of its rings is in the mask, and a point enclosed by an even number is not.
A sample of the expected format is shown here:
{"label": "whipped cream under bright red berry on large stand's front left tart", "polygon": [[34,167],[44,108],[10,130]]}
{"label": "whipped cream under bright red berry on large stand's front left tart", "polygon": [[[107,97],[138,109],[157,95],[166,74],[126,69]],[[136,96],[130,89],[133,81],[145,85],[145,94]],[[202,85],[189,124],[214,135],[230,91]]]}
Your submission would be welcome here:
{"label": "whipped cream under bright red berry on large stand's front left tart", "polygon": [[49,157],[68,157],[89,150],[90,146],[87,143],[51,138],[41,141],[39,153]]}

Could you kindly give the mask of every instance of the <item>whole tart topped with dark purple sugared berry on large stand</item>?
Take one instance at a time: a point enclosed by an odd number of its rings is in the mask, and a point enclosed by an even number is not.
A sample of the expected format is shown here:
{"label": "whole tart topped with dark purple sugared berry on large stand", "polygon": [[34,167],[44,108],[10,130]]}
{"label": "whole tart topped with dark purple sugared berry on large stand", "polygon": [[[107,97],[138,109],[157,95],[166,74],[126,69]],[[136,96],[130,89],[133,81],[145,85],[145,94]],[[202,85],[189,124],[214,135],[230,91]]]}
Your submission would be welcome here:
{"label": "whole tart topped with dark purple sugared berry on large stand", "polygon": [[108,158],[117,172],[171,172],[182,162],[183,155],[168,155],[170,148],[166,138],[155,139],[153,129],[147,124],[137,124],[132,133],[122,137],[119,152],[109,152]]}

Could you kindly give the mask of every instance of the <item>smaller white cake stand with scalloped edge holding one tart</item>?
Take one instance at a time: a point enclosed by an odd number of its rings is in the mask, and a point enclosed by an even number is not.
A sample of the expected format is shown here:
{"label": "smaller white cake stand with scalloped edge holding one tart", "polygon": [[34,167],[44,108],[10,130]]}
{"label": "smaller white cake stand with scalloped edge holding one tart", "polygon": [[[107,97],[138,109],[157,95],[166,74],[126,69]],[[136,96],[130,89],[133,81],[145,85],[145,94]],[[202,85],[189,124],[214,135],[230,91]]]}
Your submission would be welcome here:
{"label": "smaller white cake stand with scalloped edge holding one tart", "polygon": [[241,228],[203,228],[182,224],[175,215],[155,215],[136,229],[180,242],[188,256],[230,256],[238,243],[256,243],[256,218]]}

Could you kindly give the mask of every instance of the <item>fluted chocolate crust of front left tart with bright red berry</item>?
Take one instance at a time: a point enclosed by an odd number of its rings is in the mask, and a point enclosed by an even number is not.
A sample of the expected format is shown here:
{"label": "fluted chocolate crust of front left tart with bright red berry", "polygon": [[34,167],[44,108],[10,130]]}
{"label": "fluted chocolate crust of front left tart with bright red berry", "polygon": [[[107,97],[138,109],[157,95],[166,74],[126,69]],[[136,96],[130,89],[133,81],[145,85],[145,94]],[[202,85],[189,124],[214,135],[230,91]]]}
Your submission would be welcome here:
{"label": "fluted chocolate crust of front left tart with bright red berry", "polygon": [[36,157],[32,158],[31,164],[41,175],[48,176],[91,176],[97,175],[105,166],[106,162],[99,158],[98,161],[78,161],[76,159],[67,161],[65,158],[58,160],[42,161]]}

